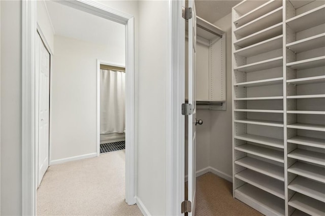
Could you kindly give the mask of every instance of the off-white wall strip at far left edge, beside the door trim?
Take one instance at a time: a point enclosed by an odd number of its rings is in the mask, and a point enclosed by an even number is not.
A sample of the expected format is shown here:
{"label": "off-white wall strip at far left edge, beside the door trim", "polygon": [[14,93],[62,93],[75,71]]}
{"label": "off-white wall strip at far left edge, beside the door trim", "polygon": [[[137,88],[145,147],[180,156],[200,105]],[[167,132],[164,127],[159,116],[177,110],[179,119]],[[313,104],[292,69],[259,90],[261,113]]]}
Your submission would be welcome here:
{"label": "off-white wall strip at far left edge, beside the door trim", "polygon": [[1,1],[1,215],[21,215],[21,2]]}

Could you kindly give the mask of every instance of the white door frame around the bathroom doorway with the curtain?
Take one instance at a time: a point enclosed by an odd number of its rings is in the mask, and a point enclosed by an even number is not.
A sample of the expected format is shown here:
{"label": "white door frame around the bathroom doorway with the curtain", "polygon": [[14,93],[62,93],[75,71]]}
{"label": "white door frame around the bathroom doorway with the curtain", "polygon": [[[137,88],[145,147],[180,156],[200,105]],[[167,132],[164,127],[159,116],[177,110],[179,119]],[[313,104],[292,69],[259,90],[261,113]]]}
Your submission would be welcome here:
{"label": "white door frame around the bathroom doorway with the curtain", "polygon": [[[96,132],[97,132],[97,157],[100,156],[101,152],[101,64],[105,65],[110,65],[110,66],[116,66],[116,67],[125,67],[125,65],[121,65],[115,62],[110,62],[110,61],[104,61],[97,59],[97,69],[96,69],[96,106],[97,106],[97,113],[96,113]],[[125,68],[125,73],[126,73],[126,68]],[[125,84],[126,84],[126,74],[125,74]],[[126,90],[126,85],[125,85],[125,90]],[[125,98],[126,100],[126,98]],[[126,113],[126,101],[125,101],[125,113]],[[126,116],[125,116],[126,117]],[[129,142],[129,140],[126,140],[126,121],[125,121],[125,143]],[[128,146],[127,146],[128,148]],[[125,152],[126,152],[126,146],[125,146]]]}

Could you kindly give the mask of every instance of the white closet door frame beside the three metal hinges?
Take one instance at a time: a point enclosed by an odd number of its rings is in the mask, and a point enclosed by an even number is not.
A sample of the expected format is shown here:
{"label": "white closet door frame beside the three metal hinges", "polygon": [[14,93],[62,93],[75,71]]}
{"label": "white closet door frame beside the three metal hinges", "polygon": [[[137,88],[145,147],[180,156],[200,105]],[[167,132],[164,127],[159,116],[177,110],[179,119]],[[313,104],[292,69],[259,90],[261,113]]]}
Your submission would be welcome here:
{"label": "white closet door frame beside the three metal hinges", "polygon": [[166,215],[184,215],[185,189],[185,0],[169,0],[166,122]]}

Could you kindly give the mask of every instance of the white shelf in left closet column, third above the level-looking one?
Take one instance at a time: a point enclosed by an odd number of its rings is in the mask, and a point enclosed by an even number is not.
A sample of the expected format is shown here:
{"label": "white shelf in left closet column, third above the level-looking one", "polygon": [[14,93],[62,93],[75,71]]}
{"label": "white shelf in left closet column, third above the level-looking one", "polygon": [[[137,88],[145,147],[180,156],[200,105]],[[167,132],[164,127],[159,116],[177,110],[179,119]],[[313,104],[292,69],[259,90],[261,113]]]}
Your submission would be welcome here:
{"label": "white shelf in left closet column, third above the level-looking one", "polygon": [[282,48],[282,34],[277,37],[237,50],[234,54],[249,57]]}

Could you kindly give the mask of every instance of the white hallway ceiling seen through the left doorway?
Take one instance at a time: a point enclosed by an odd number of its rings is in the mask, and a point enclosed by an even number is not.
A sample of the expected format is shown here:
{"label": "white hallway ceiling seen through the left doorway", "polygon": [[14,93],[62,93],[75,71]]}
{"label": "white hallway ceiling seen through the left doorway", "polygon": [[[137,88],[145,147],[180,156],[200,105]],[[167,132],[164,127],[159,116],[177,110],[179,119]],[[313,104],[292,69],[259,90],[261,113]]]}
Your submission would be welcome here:
{"label": "white hallway ceiling seen through the left doorway", "polygon": [[101,45],[125,43],[125,25],[53,1],[45,4],[56,35]]}

